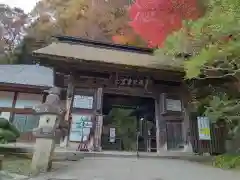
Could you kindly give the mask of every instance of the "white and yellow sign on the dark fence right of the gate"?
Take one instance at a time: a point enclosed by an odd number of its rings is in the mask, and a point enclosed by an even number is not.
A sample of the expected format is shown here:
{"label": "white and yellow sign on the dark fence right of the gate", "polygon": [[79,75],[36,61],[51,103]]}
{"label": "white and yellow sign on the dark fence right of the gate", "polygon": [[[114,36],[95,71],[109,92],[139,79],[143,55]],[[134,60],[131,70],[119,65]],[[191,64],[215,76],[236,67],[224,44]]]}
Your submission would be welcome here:
{"label": "white and yellow sign on the dark fence right of the gate", "polygon": [[199,140],[211,140],[210,121],[208,117],[197,117]]}

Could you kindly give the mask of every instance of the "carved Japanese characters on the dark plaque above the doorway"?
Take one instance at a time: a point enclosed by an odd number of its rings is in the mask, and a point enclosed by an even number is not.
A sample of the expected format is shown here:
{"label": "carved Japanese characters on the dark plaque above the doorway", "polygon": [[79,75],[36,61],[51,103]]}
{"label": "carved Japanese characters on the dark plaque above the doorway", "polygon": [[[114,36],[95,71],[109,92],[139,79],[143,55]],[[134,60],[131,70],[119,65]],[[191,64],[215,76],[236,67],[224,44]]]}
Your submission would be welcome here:
{"label": "carved Japanese characters on the dark plaque above the doorway", "polygon": [[148,79],[147,78],[135,78],[135,77],[120,76],[120,77],[116,78],[115,84],[117,86],[147,88]]}

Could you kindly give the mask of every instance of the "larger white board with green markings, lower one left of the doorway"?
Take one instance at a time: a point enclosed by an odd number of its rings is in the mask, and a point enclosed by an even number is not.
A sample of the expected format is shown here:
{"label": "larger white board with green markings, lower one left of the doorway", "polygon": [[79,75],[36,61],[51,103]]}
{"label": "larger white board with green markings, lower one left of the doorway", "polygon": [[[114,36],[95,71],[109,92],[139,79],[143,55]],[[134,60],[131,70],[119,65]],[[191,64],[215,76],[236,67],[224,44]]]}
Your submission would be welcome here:
{"label": "larger white board with green markings, lower one left of the doorway", "polygon": [[92,120],[90,115],[73,114],[71,131],[69,135],[70,141],[73,142],[87,141],[91,128]]}

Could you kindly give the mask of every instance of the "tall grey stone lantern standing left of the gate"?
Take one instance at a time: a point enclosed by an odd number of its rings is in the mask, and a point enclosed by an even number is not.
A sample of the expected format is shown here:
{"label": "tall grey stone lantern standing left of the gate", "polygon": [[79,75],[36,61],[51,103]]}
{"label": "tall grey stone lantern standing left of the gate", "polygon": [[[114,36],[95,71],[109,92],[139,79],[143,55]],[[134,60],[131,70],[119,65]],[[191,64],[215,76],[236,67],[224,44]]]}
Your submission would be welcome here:
{"label": "tall grey stone lantern standing left of the gate", "polygon": [[51,168],[51,158],[55,149],[57,128],[63,116],[60,106],[60,90],[52,88],[46,102],[34,108],[36,115],[40,116],[39,126],[33,131],[36,144],[32,158],[32,173],[46,172]]}

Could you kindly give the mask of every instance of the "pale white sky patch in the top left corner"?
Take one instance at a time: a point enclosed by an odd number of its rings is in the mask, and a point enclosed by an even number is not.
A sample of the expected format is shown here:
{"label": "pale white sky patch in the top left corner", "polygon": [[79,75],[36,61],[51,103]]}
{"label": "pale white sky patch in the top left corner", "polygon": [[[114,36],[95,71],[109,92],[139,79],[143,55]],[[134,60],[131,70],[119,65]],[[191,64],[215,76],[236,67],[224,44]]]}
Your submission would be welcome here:
{"label": "pale white sky patch in the top left corner", "polygon": [[0,4],[7,4],[10,7],[18,7],[29,13],[39,0],[0,0]]}

